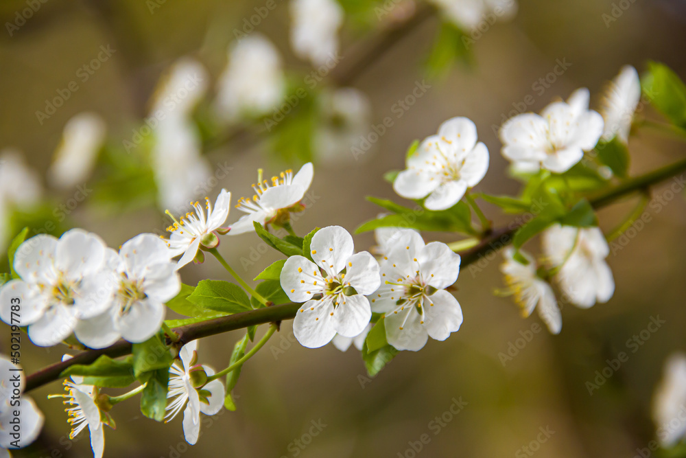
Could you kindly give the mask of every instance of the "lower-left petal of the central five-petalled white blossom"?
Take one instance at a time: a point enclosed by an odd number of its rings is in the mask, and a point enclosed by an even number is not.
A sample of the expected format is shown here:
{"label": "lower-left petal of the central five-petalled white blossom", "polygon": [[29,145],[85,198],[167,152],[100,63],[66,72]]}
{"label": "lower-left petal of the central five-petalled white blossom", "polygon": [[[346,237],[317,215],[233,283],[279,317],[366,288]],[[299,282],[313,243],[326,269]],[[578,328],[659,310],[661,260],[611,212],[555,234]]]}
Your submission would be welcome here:
{"label": "lower-left petal of the central five-petalled white blossom", "polygon": [[293,320],[293,334],[300,345],[319,348],[331,342],[335,336],[335,319],[331,316],[333,303],[326,301],[307,301],[298,309]]}

